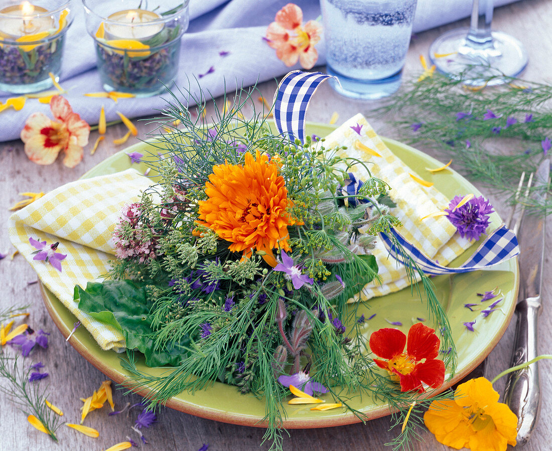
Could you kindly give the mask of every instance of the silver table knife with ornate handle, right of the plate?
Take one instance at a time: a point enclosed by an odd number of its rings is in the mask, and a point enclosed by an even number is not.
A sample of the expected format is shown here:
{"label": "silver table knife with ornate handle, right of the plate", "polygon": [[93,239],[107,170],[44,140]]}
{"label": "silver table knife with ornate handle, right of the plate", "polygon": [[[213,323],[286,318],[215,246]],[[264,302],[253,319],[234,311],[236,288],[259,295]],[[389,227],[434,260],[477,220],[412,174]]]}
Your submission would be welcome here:
{"label": "silver table knife with ornate handle, right of the plate", "polygon": [[[542,203],[546,199],[550,177],[550,160],[544,160],[535,174],[529,201]],[[537,321],[543,284],[545,215],[524,215],[519,228],[520,288],[516,305],[516,336],[511,366],[537,357]],[[537,363],[510,373],[506,383],[506,404],[518,417],[517,444],[529,439],[540,408],[539,370]]]}

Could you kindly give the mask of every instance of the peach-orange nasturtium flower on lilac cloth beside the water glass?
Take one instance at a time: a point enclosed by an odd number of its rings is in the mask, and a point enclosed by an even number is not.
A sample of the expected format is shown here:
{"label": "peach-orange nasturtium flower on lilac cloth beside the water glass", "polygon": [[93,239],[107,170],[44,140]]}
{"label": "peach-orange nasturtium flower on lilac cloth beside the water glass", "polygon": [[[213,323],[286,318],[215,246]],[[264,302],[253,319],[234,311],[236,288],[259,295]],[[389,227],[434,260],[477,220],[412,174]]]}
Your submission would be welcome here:
{"label": "peach-orange nasturtium flower on lilac cloth beside the water glass", "polygon": [[266,39],[286,66],[293,66],[299,60],[303,68],[310,69],[318,60],[314,46],[320,41],[322,26],[316,20],[309,20],[302,26],[302,21],[301,8],[288,3],[268,25]]}

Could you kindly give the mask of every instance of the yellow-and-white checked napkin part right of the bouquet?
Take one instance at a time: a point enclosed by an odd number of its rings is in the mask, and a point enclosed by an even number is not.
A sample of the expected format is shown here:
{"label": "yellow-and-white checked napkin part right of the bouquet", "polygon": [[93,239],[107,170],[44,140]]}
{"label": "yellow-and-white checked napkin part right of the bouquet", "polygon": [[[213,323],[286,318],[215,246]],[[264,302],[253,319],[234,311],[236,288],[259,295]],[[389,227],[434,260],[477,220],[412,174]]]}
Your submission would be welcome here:
{"label": "yellow-and-white checked napkin part right of the bouquet", "polygon": [[[362,125],[360,136],[351,128],[357,124]],[[359,142],[362,145],[359,145]],[[426,188],[415,182],[409,174],[422,179],[423,177],[413,172],[389,150],[362,114],[353,116],[326,136],[324,146],[347,146],[346,150],[338,152],[339,156],[368,162],[367,166],[373,176],[389,183],[392,188],[389,197],[397,204],[396,208],[392,209],[392,214],[402,222],[399,232],[429,258],[447,265],[470,246],[468,240],[460,238],[456,233],[456,227],[450,224],[446,217],[420,220],[429,213],[443,210],[450,200],[436,188]],[[363,146],[372,152],[365,150]],[[355,165],[349,172],[353,172],[355,177],[362,181],[369,178],[367,169],[362,165]],[[388,251],[379,240],[374,256],[379,265],[381,284],[373,282],[366,285],[360,293],[362,300],[393,293],[409,285],[405,268],[402,265],[397,266],[394,259],[388,258]]]}

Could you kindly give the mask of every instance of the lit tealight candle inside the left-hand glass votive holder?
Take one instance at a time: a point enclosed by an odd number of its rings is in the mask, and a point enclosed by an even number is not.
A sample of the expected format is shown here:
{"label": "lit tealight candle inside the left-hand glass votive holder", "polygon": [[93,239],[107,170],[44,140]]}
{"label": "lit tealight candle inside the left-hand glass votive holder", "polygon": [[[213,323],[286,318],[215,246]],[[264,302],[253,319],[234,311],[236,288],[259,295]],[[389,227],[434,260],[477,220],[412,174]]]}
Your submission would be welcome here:
{"label": "lit tealight candle inside the left-hand glass votive holder", "polygon": [[53,15],[48,10],[27,1],[0,10],[0,33],[10,38],[20,38],[56,28]]}

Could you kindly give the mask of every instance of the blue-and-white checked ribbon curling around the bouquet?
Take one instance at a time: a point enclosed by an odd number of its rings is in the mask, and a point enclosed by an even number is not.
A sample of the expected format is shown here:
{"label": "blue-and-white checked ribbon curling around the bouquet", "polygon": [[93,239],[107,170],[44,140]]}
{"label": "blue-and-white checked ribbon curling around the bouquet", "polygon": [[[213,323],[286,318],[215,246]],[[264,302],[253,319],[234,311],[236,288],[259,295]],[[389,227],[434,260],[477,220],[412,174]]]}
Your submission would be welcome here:
{"label": "blue-and-white checked ribbon curling around the bouquet", "polygon": [[[278,91],[274,94],[274,121],[280,134],[289,136],[290,140],[299,138],[301,142],[305,142],[305,114],[310,98],[320,83],[328,78],[331,76],[321,72],[294,71],[282,79]],[[357,191],[360,185],[361,181],[357,182],[352,178],[351,183],[345,188],[349,193],[351,190]],[[391,233],[423,272],[431,275],[465,273],[487,268],[519,254],[516,235],[505,226],[493,231],[475,254],[459,268],[448,268],[431,261],[396,229],[391,229]],[[380,234],[380,237],[390,255],[405,264],[404,256],[397,250],[391,238],[385,234]]]}

